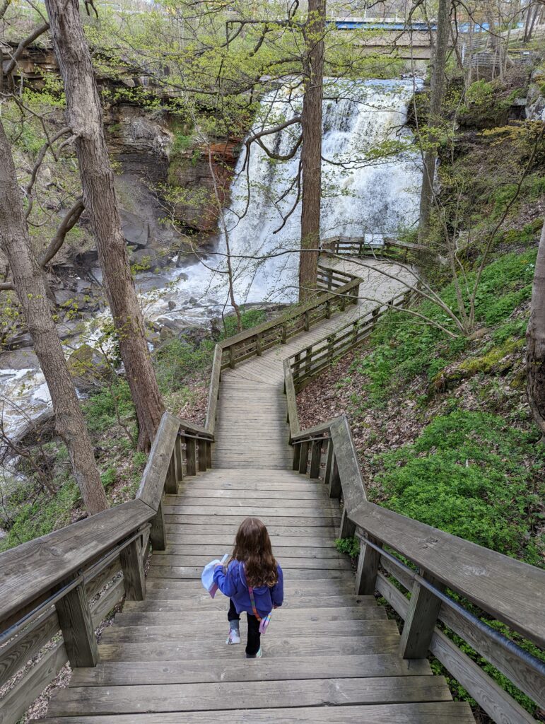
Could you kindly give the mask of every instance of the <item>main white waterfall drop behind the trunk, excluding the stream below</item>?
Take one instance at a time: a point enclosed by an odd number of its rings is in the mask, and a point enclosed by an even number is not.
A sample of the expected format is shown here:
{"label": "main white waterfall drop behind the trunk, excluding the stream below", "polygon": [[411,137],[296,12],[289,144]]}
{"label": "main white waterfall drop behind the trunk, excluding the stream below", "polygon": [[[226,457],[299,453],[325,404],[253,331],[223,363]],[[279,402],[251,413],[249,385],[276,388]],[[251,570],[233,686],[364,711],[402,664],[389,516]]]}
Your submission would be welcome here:
{"label": "main white waterfall drop behind the trunk, excluding the stream below", "polygon": [[[326,83],[322,239],[367,234],[380,240],[417,222],[421,167],[412,146],[413,134],[405,125],[414,91],[413,80]],[[253,134],[279,125],[300,112],[300,107],[300,97],[294,100],[288,88],[269,93],[261,103]],[[262,140],[267,148],[286,155],[298,133],[295,125]],[[393,155],[377,158],[379,150]],[[289,161],[272,161],[253,143],[250,159],[242,153],[237,163],[227,226],[240,301],[297,297],[300,205],[283,226],[282,215],[297,198],[297,190],[290,187],[299,160],[297,152]],[[280,256],[271,256],[275,254]],[[268,255],[261,263],[237,258]]]}

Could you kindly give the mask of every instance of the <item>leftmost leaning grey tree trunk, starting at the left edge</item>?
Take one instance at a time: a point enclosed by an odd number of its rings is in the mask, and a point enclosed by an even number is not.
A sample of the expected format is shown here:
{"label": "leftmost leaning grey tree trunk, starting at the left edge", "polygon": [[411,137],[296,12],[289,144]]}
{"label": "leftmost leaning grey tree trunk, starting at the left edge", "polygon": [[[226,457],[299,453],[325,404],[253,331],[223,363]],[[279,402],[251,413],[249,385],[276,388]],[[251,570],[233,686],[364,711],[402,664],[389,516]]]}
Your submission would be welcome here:
{"label": "leftmost leaning grey tree trunk, starting at the left edge", "polygon": [[80,403],[49,307],[43,272],[28,237],[11,148],[0,123],[0,245],[12,269],[34,351],[46,378],[56,431],[68,448],[72,470],[90,515],[108,508]]}

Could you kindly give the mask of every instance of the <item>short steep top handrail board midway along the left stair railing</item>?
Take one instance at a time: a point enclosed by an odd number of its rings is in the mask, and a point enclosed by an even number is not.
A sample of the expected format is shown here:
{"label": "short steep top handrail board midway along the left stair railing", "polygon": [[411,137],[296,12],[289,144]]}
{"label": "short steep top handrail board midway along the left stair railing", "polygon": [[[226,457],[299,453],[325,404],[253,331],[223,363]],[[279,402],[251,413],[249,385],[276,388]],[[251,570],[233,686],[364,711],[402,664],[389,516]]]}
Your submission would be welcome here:
{"label": "short steep top handrail board midway along the left stair railing", "polygon": [[163,413],[136,494],[138,500],[142,500],[153,510],[157,510],[163,494],[164,482],[169,470],[178,430],[179,420],[170,413]]}

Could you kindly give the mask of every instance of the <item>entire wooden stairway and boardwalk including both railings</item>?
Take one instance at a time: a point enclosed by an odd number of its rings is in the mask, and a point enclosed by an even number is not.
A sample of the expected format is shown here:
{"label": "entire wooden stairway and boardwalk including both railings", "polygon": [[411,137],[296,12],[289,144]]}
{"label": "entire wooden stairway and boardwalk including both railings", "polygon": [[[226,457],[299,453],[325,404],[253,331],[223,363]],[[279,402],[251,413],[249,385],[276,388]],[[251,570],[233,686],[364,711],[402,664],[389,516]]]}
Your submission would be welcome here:
{"label": "entire wooden stairway and boardwalk including both railings", "polygon": [[[407,267],[358,251],[321,259],[315,299],[216,346],[206,424],[165,413],[136,500],[0,556],[1,724],[67,661],[43,724],[473,722],[429,652],[495,721],[533,721],[445,627],[543,706],[542,662],[476,611],[543,646],[545,573],[368,502],[344,416],[300,429],[297,390],[415,299]],[[248,515],[285,579],[260,660],[224,644],[227,599],[200,585]],[[354,534],[356,571],[334,547]]]}

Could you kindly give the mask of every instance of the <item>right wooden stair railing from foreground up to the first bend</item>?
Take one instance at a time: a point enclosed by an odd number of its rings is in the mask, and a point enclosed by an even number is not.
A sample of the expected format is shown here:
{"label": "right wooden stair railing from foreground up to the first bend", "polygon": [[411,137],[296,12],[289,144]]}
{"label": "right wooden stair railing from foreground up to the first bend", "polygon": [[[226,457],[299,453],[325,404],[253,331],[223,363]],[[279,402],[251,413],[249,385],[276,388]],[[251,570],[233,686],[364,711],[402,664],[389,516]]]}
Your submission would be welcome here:
{"label": "right wooden stair railing from foreground up to the first bend", "polygon": [[545,571],[368,502],[347,418],[301,432],[291,361],[284,362],[284,385],[293,469],[323,479],[342,505],[339,537],[360,539],[355,593],[378,592],[405,621],[404,658],[431,652],[492,720],[533,722],[446,631],[545,707],[545,663],[497,630],[506,624],[545,647]]}

